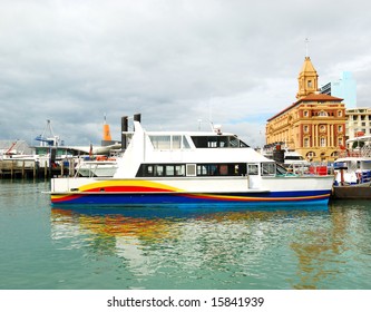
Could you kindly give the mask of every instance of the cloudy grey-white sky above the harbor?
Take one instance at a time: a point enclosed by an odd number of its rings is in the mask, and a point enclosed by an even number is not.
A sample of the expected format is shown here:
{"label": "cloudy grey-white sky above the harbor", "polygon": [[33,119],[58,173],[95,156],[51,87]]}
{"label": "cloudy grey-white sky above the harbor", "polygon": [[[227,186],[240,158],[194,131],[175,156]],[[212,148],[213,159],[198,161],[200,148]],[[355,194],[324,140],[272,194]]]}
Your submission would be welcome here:
{"label": "cloudy grey-white sky above the harbor", "polygon": [[148,130],[208,129],[250,145],[295,101],[309,55],[320,85],[351,71],[371,107],[364,0],[0,0],[0,139],[99,144],[104,116]]}

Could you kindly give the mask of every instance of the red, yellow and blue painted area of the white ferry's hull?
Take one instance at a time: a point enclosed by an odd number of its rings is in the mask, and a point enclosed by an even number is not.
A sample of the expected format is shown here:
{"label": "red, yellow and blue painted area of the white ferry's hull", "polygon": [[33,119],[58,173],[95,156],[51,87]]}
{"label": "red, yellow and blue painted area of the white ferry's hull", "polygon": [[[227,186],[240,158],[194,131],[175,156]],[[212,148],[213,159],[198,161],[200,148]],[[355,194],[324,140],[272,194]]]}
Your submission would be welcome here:
{"label": "red, yellow and blue painted area of the white ferry's hull", "polygon": [[167,205],[167,204],[227,204],[227,205],[302,205],[323,204],[330,198],[330,189],[318,191],[248,191],[248,192],[184,192],[174,187],[159,188],[144,185],[115,183],[92,184],[84,191],[51,194],[55,204],[98,205]]}

